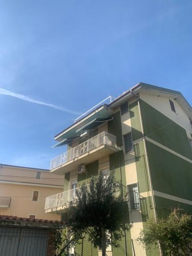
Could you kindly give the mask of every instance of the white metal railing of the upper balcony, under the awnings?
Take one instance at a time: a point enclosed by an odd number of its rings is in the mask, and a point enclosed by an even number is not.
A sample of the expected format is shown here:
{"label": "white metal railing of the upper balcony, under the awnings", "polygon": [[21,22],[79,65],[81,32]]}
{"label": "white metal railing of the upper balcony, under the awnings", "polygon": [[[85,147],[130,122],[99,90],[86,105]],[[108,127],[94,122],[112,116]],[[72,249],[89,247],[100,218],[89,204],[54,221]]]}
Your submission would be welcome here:
{"label": "white metal railing of the upper balcony, under the awnings", "polygon": [[117,147],[116,144],[116,136],[107,133],[102,132],[95,137],[92,137],[89,140],[84,141],[83,143],[79,144],[78,146],[75,146],[71,148],[71,150],[68,150],[67,152],[55,157],[53,160],[51,160],[50,163],[50,170],[67,163],[85,153],[88,153],[89,151],[93,150],[96,147],[101,146],[102,144],[110,145],[113,147]]}

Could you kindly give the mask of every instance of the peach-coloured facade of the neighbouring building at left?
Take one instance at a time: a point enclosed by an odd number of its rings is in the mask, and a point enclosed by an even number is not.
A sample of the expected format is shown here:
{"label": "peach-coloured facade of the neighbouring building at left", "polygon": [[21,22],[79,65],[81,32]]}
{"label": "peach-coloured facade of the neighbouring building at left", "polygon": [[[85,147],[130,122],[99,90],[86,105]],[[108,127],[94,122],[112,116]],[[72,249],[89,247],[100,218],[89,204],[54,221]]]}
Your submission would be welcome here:
{"label": "peach-coloured facade of the neighbouring building at left", "polygon": [[[36,179],[36,172],[41,172]],[[15,215],[36,219],[60,220],[60,215],[45,214],[46,197],[63,191],[62,176],[51,174],[46,170],[0,165],[0,197],[11,197],[9,208],[0,207],[1,215]],[[39,191],[38,201],[32,201],[33,191]]]}

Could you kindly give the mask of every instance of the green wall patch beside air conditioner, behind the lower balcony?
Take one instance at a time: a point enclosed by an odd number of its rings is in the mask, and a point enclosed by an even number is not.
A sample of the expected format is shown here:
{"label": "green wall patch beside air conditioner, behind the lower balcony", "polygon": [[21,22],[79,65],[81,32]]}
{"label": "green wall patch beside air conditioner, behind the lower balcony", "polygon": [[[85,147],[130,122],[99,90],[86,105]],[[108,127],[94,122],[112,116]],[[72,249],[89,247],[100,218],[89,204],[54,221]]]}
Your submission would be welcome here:
{"label": "green wall patch beside air conditioner, behind the lower balcony", "polygon": [[99,161],[95,161],[86,165],[87,173],[78,174],[77,186],[82,186],[83,184],[89,184],[92,176],[97,176],[99,172]]}

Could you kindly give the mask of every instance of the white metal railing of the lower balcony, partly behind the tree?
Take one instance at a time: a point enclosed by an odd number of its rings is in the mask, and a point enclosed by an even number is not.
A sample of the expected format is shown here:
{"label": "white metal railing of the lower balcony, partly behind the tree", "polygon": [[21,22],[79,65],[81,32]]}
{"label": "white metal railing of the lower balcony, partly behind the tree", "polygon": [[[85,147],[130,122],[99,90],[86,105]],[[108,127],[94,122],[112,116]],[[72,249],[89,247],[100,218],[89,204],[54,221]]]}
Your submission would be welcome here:
{"label": "white metal railing of the lower balcony, partly behind the tree", "polygon": [[[88,189],[90,188],[90,184],[86,185],[88,186]],[[70,202],[75,202],[77,199],[76,197],[76,191],[80,189],[79,187],[50,196],[46,197],[46,203],[45,203],[45,210],[48,209],[54,209],[57,207],[67,207]],[[116,191],[115,197],[120,196],[120,190]]]}

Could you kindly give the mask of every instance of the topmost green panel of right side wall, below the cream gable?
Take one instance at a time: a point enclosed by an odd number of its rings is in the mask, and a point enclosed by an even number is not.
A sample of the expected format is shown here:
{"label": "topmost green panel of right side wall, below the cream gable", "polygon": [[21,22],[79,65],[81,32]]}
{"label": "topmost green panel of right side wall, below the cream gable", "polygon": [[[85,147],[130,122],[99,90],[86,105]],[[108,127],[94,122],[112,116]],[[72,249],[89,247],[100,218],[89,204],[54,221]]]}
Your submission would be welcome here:
{"label": "topmost green panel of right side wall, below the cream gable", "polygon": [[167,146],[182,156],[192,159],[192,152],[185,129],[145,101],[140,100],[140,102],[145,136]]}

